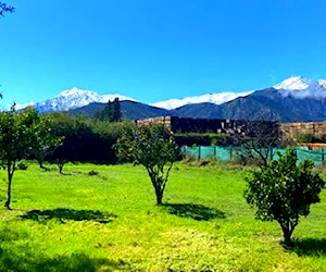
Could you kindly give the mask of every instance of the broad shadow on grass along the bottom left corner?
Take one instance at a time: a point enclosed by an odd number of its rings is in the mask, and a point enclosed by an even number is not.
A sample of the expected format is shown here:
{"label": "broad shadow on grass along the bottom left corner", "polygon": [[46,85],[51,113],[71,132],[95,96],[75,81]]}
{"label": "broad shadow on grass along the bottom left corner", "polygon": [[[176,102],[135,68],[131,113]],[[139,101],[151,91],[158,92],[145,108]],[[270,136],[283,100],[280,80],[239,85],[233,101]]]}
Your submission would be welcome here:
{"label": "broad shadow on grass along the bottom left corner", "polygon": [[48,258],[27,250],[25,254],[8,251],[0,248],[0,271],[35,271],[35,272],[88,272],[88,271],[128,271],[129,264],[123,260],[113,261],[104,258],[90,258],[84,252],[71,256]]}

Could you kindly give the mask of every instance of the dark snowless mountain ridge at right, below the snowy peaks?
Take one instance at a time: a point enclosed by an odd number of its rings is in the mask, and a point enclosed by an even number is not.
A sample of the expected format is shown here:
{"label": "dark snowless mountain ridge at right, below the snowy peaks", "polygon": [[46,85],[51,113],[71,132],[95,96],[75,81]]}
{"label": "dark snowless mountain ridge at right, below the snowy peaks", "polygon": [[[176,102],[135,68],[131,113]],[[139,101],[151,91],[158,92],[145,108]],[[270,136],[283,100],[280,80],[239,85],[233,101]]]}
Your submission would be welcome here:
{"label": "dark snowless mountain ridge at right, below the snowy peaks", "polygon": [[326,121],[326,99],[285,97],[279,90],[268,88],[221,106],[189,104],[177,109],[176,112],[178,116],[184,118],[323,122]]}

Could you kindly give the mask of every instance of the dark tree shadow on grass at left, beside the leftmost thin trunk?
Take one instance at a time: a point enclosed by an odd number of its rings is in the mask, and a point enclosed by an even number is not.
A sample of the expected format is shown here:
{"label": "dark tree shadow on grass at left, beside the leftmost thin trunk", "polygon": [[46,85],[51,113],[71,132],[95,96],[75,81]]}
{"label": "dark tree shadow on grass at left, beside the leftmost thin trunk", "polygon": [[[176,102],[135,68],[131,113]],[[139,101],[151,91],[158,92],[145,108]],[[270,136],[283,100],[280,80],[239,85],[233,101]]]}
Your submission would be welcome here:
{"label": "dark tree shadow on grass at left, beside the leftmost thin trunk", "polygon": [[74,210],[58,208],[53,210],[32,210],[21,215],[24,220],[34,220],[38,222],[45,222],[51,219],[58,219],[61,223],[65,223],[64,220],[74,221],[96,221],[99,223],[110,223],[117,215],[113,213],[102,212],[99,210]]}

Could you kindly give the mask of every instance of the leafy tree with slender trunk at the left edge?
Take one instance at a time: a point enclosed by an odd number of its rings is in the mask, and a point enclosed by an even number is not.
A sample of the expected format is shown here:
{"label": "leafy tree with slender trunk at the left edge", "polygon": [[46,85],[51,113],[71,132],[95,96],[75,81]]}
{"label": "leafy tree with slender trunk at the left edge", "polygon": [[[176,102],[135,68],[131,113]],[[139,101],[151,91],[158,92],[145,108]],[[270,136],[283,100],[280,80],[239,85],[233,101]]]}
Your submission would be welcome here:
{"label": "leafy tree with slender trunk at the left edge", "polygon": [[17,162],[33,148],[36,119],[37,112],[32,108],[17,113],[13,106],[10,111],[0,113],[0,160],[8,173],[8,198],[4,203],[8,209],[11,209],[11,185]]}

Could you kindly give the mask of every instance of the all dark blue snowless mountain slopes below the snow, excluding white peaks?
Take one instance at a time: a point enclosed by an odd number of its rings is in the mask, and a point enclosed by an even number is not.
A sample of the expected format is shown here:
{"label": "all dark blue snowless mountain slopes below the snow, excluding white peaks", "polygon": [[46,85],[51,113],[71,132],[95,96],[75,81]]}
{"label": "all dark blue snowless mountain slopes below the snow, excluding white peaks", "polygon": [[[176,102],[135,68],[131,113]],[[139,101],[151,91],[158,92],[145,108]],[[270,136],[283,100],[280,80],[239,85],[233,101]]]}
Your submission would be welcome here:
{"label": "all dark blue snowless mountain slopes below the snow, excluding white peaks", "polygon": [[[88,116],[92,116],[96,111],[100,111],[104,107],[104,103],[92,103],[72,110],[71,113],[87,113]],[[271,120],[279,122],[326,121],[325,98],[284,97],[274,88],[259,90],[220,106],[204,102],[165,110],[136,101],[121,101],[121,109],[123,118],[126,120],[172,115],[192,119]]]}

